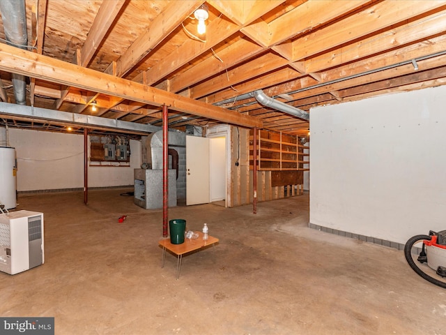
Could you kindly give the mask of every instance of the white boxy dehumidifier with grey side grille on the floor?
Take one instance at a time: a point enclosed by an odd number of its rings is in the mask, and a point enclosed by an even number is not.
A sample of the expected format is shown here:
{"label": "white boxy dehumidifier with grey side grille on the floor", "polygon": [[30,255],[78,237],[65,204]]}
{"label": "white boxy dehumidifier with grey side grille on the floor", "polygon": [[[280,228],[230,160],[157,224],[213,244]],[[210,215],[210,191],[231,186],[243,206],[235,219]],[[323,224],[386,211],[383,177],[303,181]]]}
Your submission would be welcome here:
{"label": "white boxy dehumidifier with grey side grille on the floor", "polygon": [[18,274],[42,265],[44,260],[43,213],[0,214],[0,271]]}

